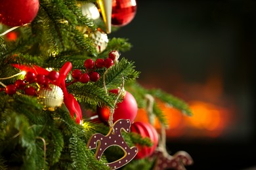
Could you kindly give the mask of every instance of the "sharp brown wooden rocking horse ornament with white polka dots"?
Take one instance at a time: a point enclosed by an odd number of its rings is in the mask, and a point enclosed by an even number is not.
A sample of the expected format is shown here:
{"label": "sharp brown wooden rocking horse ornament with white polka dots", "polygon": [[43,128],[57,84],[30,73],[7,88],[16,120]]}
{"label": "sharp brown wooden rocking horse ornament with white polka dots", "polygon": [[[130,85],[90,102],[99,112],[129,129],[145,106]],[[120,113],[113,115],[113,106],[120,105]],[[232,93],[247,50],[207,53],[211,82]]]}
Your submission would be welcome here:
{"label": "sharp brown wooden rocking horse ornament with white polka dots", "polygon": [[[138,148],[136,146],[129,147],[127,143],[125,143],[125,140],[123,139],[123,136],[121,135],[121,129],[123,129],[125,132],[130,132],[131,122],[129,119],[120,119],[117,120],[114,123],[113,128],[110,128],[110,131],[106,136],[95,133],[91,136],[87,143],[87,147],[89,149],[96,148],[95,157],[97,160],[100,160],[103,152],[110,146],[119,146],[122,148],[124,152],[124,156],[120,158],[119,160],[113,161],[111,163],[106,163],[108,167],[111,169],[117,169],[119,167],[122,167],[123,165],[129,163],[129,161],[133,160],[135,158]],[[97,146],[98,144],[98,146]]]}

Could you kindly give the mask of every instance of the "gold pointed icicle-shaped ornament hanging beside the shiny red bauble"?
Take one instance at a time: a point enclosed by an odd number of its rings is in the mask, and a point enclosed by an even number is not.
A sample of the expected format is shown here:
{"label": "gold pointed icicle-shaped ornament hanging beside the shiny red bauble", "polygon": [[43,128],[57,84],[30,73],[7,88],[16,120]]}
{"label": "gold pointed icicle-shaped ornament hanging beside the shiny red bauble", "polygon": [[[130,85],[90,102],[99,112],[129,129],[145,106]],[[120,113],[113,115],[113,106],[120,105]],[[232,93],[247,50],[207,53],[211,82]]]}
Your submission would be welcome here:
{"label": "gold pointed icicle-shaped ornament hanging beside the shiny red bauble", "polygon": [[106,25],[106,33],[111,33],[112,0],[97,0],[96,2]]}

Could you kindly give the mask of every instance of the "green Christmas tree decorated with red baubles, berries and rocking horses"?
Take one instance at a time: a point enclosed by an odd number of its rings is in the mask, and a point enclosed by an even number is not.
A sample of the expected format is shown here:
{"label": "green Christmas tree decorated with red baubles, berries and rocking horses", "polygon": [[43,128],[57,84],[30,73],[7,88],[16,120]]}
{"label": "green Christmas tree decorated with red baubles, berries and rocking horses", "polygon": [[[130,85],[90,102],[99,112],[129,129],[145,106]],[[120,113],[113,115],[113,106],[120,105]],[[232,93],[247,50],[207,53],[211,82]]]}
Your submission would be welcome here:
{"label": "green Christmas tree decorated with red baubles, berries and rocking horses", "polygon": [[[158,103],[189,116],[188,105],[140,86],[125,56],[131,44],[106,34],[128,24],[136,8],[122,0],[0,1],[0,169],[165,169],[159,158],[175,169],[192,163],[186,152],[170,156],[164,149],[168,120]],[[145,115],[148,122],[136,122]]]}

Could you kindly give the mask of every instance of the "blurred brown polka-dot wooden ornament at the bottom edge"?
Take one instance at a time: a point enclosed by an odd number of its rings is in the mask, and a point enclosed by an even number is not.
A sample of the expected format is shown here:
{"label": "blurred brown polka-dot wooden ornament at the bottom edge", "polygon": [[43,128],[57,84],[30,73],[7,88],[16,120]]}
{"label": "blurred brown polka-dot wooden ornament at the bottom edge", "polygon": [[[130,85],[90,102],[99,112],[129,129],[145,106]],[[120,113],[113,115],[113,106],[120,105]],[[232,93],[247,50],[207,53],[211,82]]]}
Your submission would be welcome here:
{"label": "blurred brown polka-dot wooden ornament at the bottom edge", "polygon": [[193,163],[190,155],[185,151],[179,151],[173,156],[163,152],[162,150],[155,150],[151,158],[156,157],[156,164],[154,170],[163,170],[163,169],[176,169],[176,170],[185,170],[185,165],[191,165]]}

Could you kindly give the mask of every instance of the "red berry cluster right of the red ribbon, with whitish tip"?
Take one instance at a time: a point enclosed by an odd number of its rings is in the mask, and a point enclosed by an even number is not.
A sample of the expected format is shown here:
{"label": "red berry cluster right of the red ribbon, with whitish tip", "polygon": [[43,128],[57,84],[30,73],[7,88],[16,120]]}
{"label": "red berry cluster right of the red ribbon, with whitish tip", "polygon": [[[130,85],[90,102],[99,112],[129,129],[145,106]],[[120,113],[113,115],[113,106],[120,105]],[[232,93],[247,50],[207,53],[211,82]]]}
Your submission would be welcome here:
{"label": "red berry cluster right of the red ribbon, with whitish tip", "polygon": [[86,59],[84,63],[84,66],[86,68],[85,73],[82,73],[82,71],[79,69],[74,69],[72,71],[72,77],[74,78],[75,82],[97,82],[98,79],[100,79],[100,75],[95,71],[95,69],[100,69],[103,67],[106,67],[106,69],[108,69],[112,65],[114,65],[118,58],[119,53],[114,50],[108,54],[108,58],[106,59],[98,58],[96,59],[96,61],[93,61],[93,59]]}

